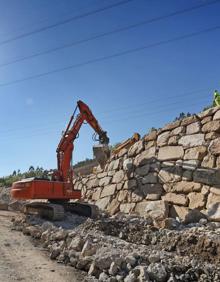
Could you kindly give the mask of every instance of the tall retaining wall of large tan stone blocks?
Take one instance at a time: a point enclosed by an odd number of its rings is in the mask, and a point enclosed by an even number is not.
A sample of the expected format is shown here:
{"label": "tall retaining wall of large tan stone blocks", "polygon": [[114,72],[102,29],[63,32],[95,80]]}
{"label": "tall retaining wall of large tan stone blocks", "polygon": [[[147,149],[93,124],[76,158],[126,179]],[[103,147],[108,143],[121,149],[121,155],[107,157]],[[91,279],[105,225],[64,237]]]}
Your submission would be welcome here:
{"label": "tall retaining wall of large tan stone blocks", "polygon": [[111,214],[184,220],[198,209],[220,220],[220,107],[151,131],[74,183]]}

